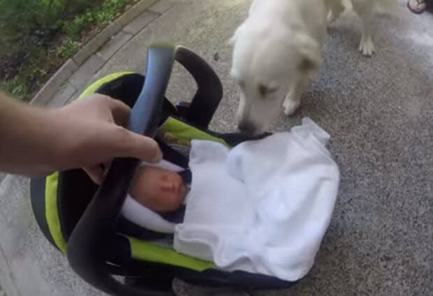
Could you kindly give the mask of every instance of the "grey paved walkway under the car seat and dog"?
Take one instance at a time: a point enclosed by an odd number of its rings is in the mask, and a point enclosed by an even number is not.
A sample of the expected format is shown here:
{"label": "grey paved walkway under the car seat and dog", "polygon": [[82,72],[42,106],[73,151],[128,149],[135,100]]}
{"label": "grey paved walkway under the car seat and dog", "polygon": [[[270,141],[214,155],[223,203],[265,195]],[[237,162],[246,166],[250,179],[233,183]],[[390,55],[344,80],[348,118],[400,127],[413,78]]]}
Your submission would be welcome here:
{"label": "grey paved walkway under the car seat and dog", "polygon": [[[113,47],[104,47],[78,70],[65,88],[73,87],[72,94],[56,96],[50,105],[73,100],[86,84],[108,73],[142,73],[147,46],[170,42],[190,47],[217,71],[225,95],[212,126],[233,130],[237,89],[228,75],[226,41],[251,1],[161,1],[160,7],[167,6],[151,13],[151,22],[138,25],[133,37],[124,29]],[[378,20],[378,52],[371,59],[357,51],[359,23],[353,13],[332,24],[325,63],[300,112],[291,119],[281,116],[274,125],[286,131],[304,116],[314,119],[332,136],[330,151],[342,172],[335,214],[316,264],[290,295],[432,294],[433,15],[413,15],[405,0],[399,3],[399,20]],[[101,64],[98,57],[104,54],[111,56]],[[192,93],[193,82],[175,68],[168,96],[179,100]],[[0,186],[1,286],[11,287],[8,296],[101,295],[78,279],[42,237],[28,186],[27,179],[14,176]]]}

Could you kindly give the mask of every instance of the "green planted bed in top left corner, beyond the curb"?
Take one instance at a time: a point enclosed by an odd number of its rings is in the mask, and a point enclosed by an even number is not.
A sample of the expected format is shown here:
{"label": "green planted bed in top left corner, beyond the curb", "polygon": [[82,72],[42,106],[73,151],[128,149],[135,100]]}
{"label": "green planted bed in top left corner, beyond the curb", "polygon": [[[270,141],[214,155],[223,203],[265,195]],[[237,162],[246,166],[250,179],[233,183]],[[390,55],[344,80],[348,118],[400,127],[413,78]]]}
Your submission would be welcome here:
{"label": "green planted bed in top left corner, beyond the curb", "polygon": [[0,0],[0,89],[29,99],[133,0]]}

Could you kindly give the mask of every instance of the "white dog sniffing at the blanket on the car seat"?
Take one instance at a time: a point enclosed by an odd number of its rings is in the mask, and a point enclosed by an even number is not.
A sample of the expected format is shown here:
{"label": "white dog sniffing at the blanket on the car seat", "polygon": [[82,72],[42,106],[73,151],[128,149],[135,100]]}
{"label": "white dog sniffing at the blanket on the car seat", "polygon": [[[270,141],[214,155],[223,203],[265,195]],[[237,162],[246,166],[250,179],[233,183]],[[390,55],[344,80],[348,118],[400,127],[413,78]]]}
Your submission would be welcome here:
{"label": "white dog sniffing at the blanket on the car seat", "polygon": [[[362,54],[374,52],[371,20],[376,6],[388,7],[395,1],[351,0],[362,20]],[[327,24],[343,11],[342,0],[254,1],[249,17],[231,39],[231,75],[241,89],[237,110],[241,131],[265,131],[281,103],[286,115],[295,112],[304,87],[321,65]]]}

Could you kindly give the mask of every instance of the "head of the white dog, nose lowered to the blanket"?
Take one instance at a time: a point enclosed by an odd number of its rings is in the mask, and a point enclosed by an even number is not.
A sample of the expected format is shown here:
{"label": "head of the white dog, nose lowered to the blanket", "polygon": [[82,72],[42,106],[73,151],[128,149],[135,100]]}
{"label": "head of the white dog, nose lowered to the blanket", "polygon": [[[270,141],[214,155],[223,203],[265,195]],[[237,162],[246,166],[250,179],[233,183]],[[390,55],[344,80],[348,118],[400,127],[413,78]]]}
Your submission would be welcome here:
{"label": "head of the white dog, nose lowered to the blanket", "polygon": [[241,92],[238,128],[257,135],[277,117],[291,84],[316,71],[321,62],[320,45],[284,26],[257,28],[247,22],[230,42],[234,45],[231,76]]}

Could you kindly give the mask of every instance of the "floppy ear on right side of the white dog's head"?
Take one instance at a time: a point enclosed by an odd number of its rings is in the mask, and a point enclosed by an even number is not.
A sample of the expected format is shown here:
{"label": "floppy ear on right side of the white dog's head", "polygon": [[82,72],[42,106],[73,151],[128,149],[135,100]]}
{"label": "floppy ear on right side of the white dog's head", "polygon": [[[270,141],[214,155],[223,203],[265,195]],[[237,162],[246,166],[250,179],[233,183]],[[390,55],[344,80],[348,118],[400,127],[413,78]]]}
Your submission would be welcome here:
{"label": "floppy ear on right side of the white dog's head", "polygon": [[298,65],[300,70],[305,72],[315,71],[322,62],[321,45],[305,34],[298,34],[296,42],[301,54],[300,64]]}

